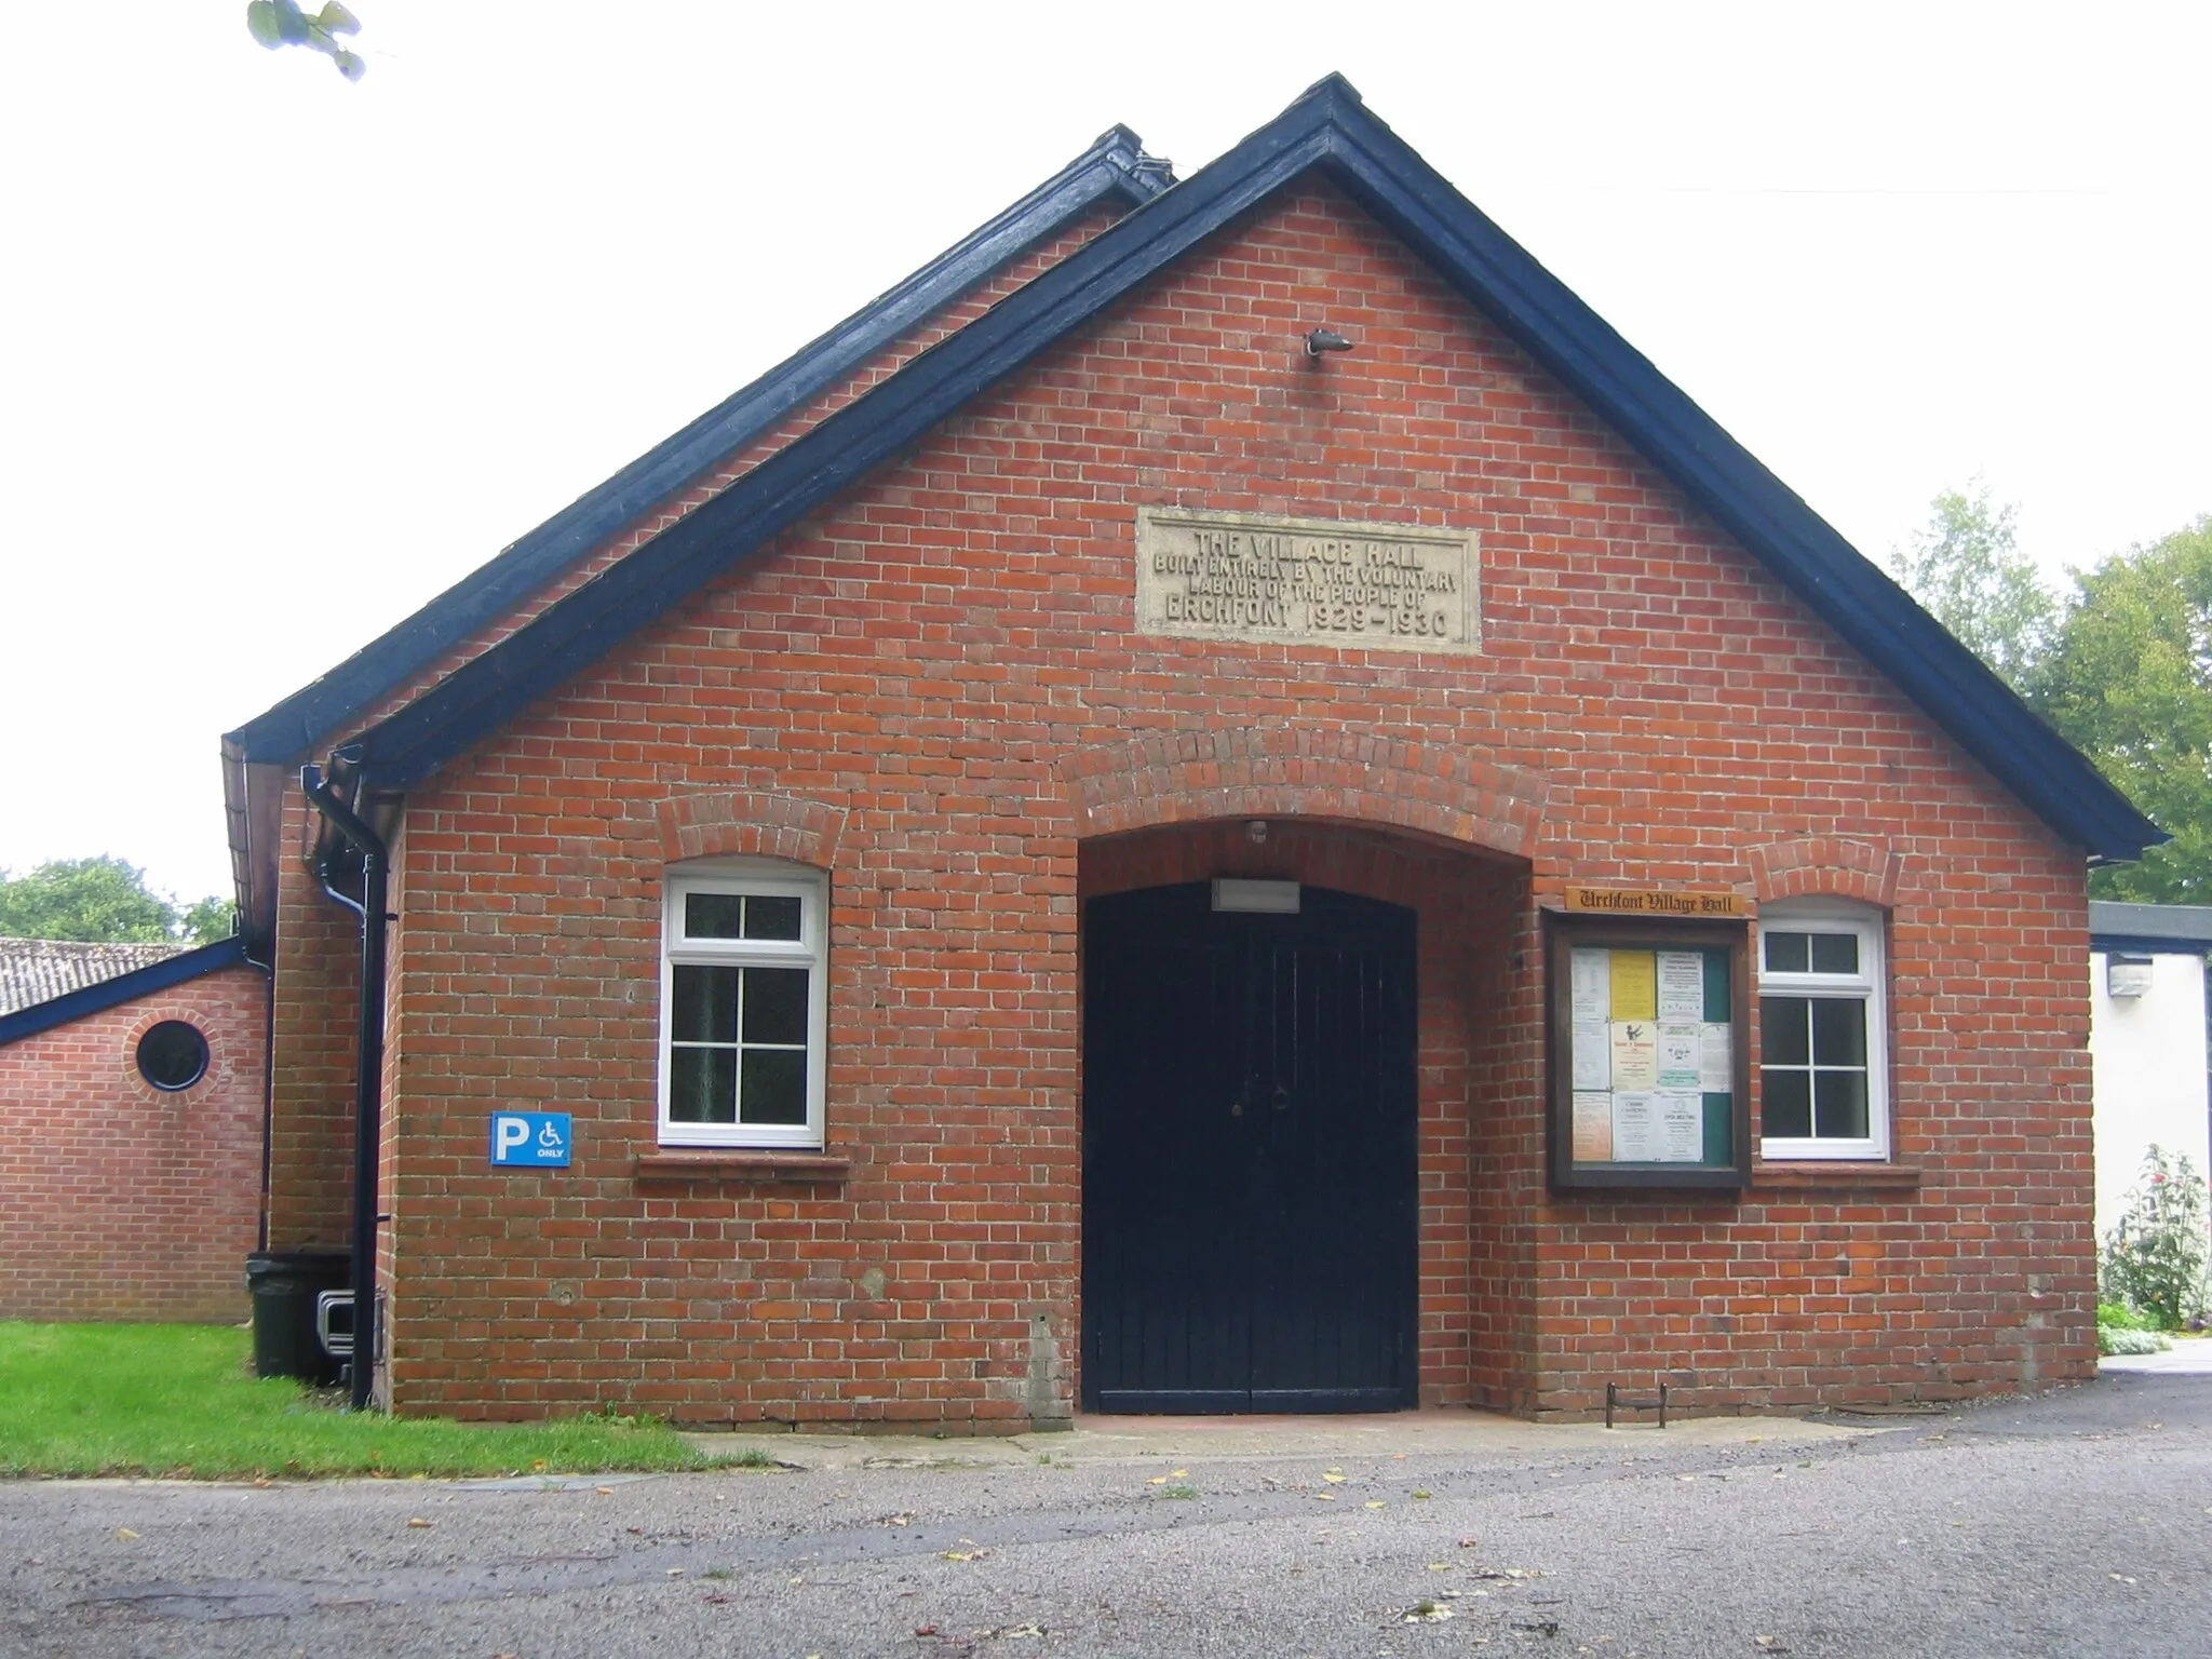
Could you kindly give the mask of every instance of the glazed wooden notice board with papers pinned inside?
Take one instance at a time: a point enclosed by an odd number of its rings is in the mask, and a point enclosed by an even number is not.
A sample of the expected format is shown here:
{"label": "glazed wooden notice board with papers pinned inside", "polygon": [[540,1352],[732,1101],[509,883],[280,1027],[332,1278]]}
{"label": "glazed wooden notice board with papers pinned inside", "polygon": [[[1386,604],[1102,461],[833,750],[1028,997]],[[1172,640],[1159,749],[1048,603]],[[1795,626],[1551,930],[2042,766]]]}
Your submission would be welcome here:
{"label": "glazed wooden notice board with papers pinned inside", "polygon": [[1544,922],[1551,1186],[1750,1186],[1750,929]]}

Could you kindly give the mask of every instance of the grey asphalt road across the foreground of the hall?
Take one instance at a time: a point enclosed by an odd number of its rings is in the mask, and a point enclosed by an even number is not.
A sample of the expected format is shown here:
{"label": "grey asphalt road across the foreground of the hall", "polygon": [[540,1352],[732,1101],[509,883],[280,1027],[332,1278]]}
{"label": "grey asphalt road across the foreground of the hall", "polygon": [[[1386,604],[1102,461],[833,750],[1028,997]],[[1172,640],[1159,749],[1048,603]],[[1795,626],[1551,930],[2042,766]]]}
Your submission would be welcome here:
{"label": "grey asphalt road across the foreground of the hall", "polygon": [[1845,1427],[0,1484],[0,1652],[2212,1655],[2212,1376]]}

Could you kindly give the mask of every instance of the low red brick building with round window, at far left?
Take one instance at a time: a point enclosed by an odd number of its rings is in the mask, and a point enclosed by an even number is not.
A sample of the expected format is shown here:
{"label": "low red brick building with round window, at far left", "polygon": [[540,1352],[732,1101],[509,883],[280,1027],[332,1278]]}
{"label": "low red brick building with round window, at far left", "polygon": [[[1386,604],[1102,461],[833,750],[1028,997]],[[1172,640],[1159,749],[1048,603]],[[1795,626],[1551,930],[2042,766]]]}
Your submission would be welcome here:
{"label": "low red brick building with round window, at far left", "polygon": [[237,940],[0,940],[0,1318],[246,1316],[268,991]]}

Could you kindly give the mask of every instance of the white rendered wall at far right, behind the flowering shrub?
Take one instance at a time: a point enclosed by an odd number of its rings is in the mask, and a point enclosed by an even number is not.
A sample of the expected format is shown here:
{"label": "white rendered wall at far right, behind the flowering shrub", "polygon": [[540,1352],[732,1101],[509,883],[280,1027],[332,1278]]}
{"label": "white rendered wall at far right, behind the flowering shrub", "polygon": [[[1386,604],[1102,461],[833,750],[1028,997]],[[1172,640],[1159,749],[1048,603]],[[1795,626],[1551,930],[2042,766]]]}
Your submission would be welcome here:
{"label": "white rendered wall at far right, behind the flowering shrub", "polygon": [[2205,962],[2150,958],[2150,991],[2106,995],[2106,953],[2090,951],[2090,1066],[2097,1088],[2097,1241],[2126,1208],[2152,1144],[2208,1172]]}

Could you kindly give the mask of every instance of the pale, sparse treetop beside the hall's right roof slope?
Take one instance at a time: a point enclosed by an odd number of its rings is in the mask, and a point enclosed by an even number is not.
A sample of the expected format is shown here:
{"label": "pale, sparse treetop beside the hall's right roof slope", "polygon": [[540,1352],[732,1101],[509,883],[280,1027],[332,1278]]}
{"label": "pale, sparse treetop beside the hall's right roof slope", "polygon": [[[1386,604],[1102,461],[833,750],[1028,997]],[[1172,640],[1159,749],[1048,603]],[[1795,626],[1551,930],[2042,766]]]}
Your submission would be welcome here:
{"label": "pale, sparse treetop beside the hall's right roof slope", "polygon": [[1911,546],[1891,551],[1889,573],[1966,650],[2024,692],[2059,608],[2013,542],[2017,511],[1991,502],[1980,482],[1947,489],[1929,502],[1929,522]]}

